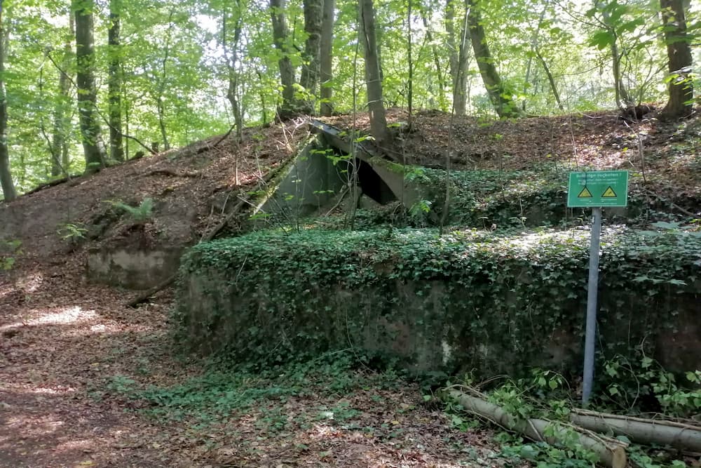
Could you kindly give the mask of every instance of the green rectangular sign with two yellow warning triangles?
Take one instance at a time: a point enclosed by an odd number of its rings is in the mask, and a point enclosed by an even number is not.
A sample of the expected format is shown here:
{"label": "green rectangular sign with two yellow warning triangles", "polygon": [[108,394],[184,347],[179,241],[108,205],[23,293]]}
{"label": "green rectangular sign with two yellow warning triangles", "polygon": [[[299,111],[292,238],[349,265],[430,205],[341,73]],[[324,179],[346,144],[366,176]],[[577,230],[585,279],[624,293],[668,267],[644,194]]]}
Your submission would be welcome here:
{"label": "green rectangular sign with two yellow warning triangles", "polygon": [[588,171],[570,173],[567,206],[626,206],[628,171]]}

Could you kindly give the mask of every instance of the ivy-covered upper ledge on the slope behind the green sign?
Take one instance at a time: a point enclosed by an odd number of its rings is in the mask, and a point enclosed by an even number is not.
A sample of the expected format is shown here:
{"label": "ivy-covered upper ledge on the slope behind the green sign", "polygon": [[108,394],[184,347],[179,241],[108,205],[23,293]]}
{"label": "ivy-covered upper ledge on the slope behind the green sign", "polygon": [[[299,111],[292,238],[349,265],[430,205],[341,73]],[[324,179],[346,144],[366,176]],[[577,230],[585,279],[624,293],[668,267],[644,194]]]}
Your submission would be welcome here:
{"label": "ivy-covered upper ledge on the slope behind the green sign", "polygon": [[[453,171],[447,223],[481,229],[581,225],[589,217],[589,210],[566,207],[570,171],[573,168],[554,165],[533,171]],[[413,168],[407,180],[426,187],[424,200],[419,203],[430,206],[437,215],[434,220],[442,218],[445,171]],[[683,215],[670,209],[668,201],[646,195],[642,183],[641,175],[630,173],[627,207],[606,210],[609,219],[628,225],[683,220]],[[430,224],[430,217],[425,218]]]}

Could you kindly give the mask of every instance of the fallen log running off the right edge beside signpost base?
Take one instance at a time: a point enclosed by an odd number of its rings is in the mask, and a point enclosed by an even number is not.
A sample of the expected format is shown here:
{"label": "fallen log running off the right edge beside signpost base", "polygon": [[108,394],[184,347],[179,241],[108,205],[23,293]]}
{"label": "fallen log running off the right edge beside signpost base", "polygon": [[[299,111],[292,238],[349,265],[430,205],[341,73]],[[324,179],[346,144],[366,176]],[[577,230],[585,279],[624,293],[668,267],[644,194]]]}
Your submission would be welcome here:
{"label": "fallen log running off the right edge beside signpost base", "polygon": [[701,452],[701,426],[581,409],[571,411],[570,421],[592,431],[626,436],[636,443],[655,443],[679,450]]}

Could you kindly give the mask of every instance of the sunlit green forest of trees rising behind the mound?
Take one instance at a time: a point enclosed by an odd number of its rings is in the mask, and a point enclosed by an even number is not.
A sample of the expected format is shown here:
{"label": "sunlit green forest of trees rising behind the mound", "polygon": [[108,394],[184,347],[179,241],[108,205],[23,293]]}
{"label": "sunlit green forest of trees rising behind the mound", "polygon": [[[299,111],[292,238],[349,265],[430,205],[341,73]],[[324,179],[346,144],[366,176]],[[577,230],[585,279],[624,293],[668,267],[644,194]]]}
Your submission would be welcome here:
{"label": "sunlit green forest of trees rising behind the mound", "polygon": [[4,197],[294,114],[669,98],[664,114],[686,116],[698,15],[685,0],[4,0]]}

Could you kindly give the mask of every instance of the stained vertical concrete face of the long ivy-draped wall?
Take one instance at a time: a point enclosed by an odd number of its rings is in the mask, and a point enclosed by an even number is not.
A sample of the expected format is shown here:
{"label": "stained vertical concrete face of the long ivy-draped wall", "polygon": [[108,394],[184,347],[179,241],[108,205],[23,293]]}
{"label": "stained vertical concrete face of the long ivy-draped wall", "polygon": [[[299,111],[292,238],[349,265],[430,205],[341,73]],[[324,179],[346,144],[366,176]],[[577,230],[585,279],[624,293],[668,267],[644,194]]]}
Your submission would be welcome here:
{"label": "stained vertical concrete face of the long ivy-draped wall", "polygon": [[[302,353],[352,346],[360,352],[395,356],[419,372],[519,375],[540,367],[578,375],[585,310],[580,300],[571,301],[571,321],[519,325],[505,310],[527,310],[527,300],[507,297],[506,309],[496,305],[461,309],[456,306],[459,297],[448,293],[446,284],[390,280],[389,295],[395,298],[391,303],[386,287],[322,289],[310,284],[293,302],[282,303],[271,299],[280,287],[274,281],[260,283],[256,290],[237,290],[226,272],[210,270],[186,278],[180,307],[188,315],[191,344],[204,354],[227,349],[236,355],[239,350],[246,359],[250,347],[273,348],[283,340]],[[323,307],[313,311],[306,307],[312,296],[323,297]],[[608,358],[627,355],[641,340],[652,340],[653,357],[665,368],[680,372],[701,368],[701,295],[689,291],[660,298],[665,309],[680,313],[654,335],[648,335],[646,322],[659,311],[649,305],[642,309],[642,304],[635,291],[601,290],[599,351]],[[248,334],[252,324],[255,335]]]}

